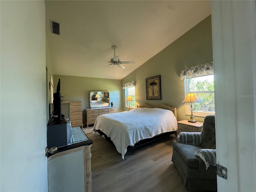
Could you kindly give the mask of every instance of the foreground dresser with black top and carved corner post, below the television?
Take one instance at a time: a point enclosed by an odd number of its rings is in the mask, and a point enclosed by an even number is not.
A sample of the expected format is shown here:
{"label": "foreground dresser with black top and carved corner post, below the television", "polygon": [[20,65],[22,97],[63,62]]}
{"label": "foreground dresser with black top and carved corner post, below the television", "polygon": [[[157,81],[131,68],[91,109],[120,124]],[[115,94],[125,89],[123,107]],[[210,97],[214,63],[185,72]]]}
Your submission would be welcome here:
{"label": "foreground dresser with black top and carved corner post, below the television", "polygon": [[81,128],[72,128],[71,143],[47,155],[48,192],[92,192],[91,146]]}

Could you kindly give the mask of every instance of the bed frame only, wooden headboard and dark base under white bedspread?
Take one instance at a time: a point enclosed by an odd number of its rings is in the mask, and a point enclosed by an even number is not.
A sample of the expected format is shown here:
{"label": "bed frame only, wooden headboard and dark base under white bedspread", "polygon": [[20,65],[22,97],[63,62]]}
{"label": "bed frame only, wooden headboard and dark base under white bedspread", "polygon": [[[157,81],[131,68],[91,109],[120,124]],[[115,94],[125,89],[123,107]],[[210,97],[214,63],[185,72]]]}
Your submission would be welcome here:
{"label": "bed frame only, wooden headboard and dark base under white bedspread", "polygon": [[[177,109],[175,107],[170,107],[167,106],[165,104],[160,104],[158,106],[150,106],[148,104],[141,104],[141,105],[137,105],[137,108],[162,108],[162,109],[167,109],[167,110],[171,110],[174,114],[174,116],[177,118]],[[111,138],[108,137],[104,132],[102,132],[101,130],[96,130],[100,135],[104,136],[104,138],[110,142],[113,146],[114,143],[112,142]],[[127,151],[128,150],[132,150],[132,154],[135,154],[135,149],[139,146],[148,144],[150,142],[156,141],[158,139],[164,138],[166,137],[167,139],[169,138],[168,136],[170,136],[171,134],[174,134],[177,137],[177,131],[171,131],[171,132],[166,132],[166,133],[162,133],[160,135],[154,136],[152,138],[148,138],[148,139],[143,139],[140,140],[138,143],[136,143],[133,147],[132,146],[128,146],[127,147]]]}

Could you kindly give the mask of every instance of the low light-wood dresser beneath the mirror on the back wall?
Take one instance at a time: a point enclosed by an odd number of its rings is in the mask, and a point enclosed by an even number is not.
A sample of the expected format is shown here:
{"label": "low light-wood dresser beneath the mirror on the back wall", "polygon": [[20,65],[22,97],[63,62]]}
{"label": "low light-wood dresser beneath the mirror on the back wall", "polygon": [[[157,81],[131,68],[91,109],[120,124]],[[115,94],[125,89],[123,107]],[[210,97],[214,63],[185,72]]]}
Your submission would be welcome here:
{"label": "low light-wood dresser beneath the mirror on the back wall", "polygon": [[107,113],[116,113],[116,107],[102,107],[102,108],[90,108],[86,110],[86,124],[87,127],[91,124],[94,124],[96,118],[99,115]]}

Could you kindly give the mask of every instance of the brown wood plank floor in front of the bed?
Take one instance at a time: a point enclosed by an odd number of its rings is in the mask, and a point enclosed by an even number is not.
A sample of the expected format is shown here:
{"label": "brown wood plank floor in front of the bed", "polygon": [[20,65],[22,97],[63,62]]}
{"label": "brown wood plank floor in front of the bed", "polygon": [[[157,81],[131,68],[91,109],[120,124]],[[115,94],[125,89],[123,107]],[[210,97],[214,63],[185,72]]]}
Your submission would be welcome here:
{"label": "brown wood plank floor in front of the bed", "polygon": [[100,134],[92,144],[93,192],[188,192],[172,163],[174,135],[141,146],[124,157]]}

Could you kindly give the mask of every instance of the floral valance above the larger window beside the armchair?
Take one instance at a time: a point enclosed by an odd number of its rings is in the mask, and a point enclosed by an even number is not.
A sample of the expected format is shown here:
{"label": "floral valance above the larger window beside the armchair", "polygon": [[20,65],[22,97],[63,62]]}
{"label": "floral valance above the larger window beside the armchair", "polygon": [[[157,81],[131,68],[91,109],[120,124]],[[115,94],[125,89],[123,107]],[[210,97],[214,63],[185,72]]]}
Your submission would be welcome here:
{"label": "floral valance above the larger window beside the armchair", "polygon": [[192,77],[200,77],[200,76],[206,76],[206,75],[212,75],[213,74],[213,62],[202,64],[195,67],[190,67],[186,69],[182,69],[180,72],[180,79],[183,79],[184,77],[192,78]]}

